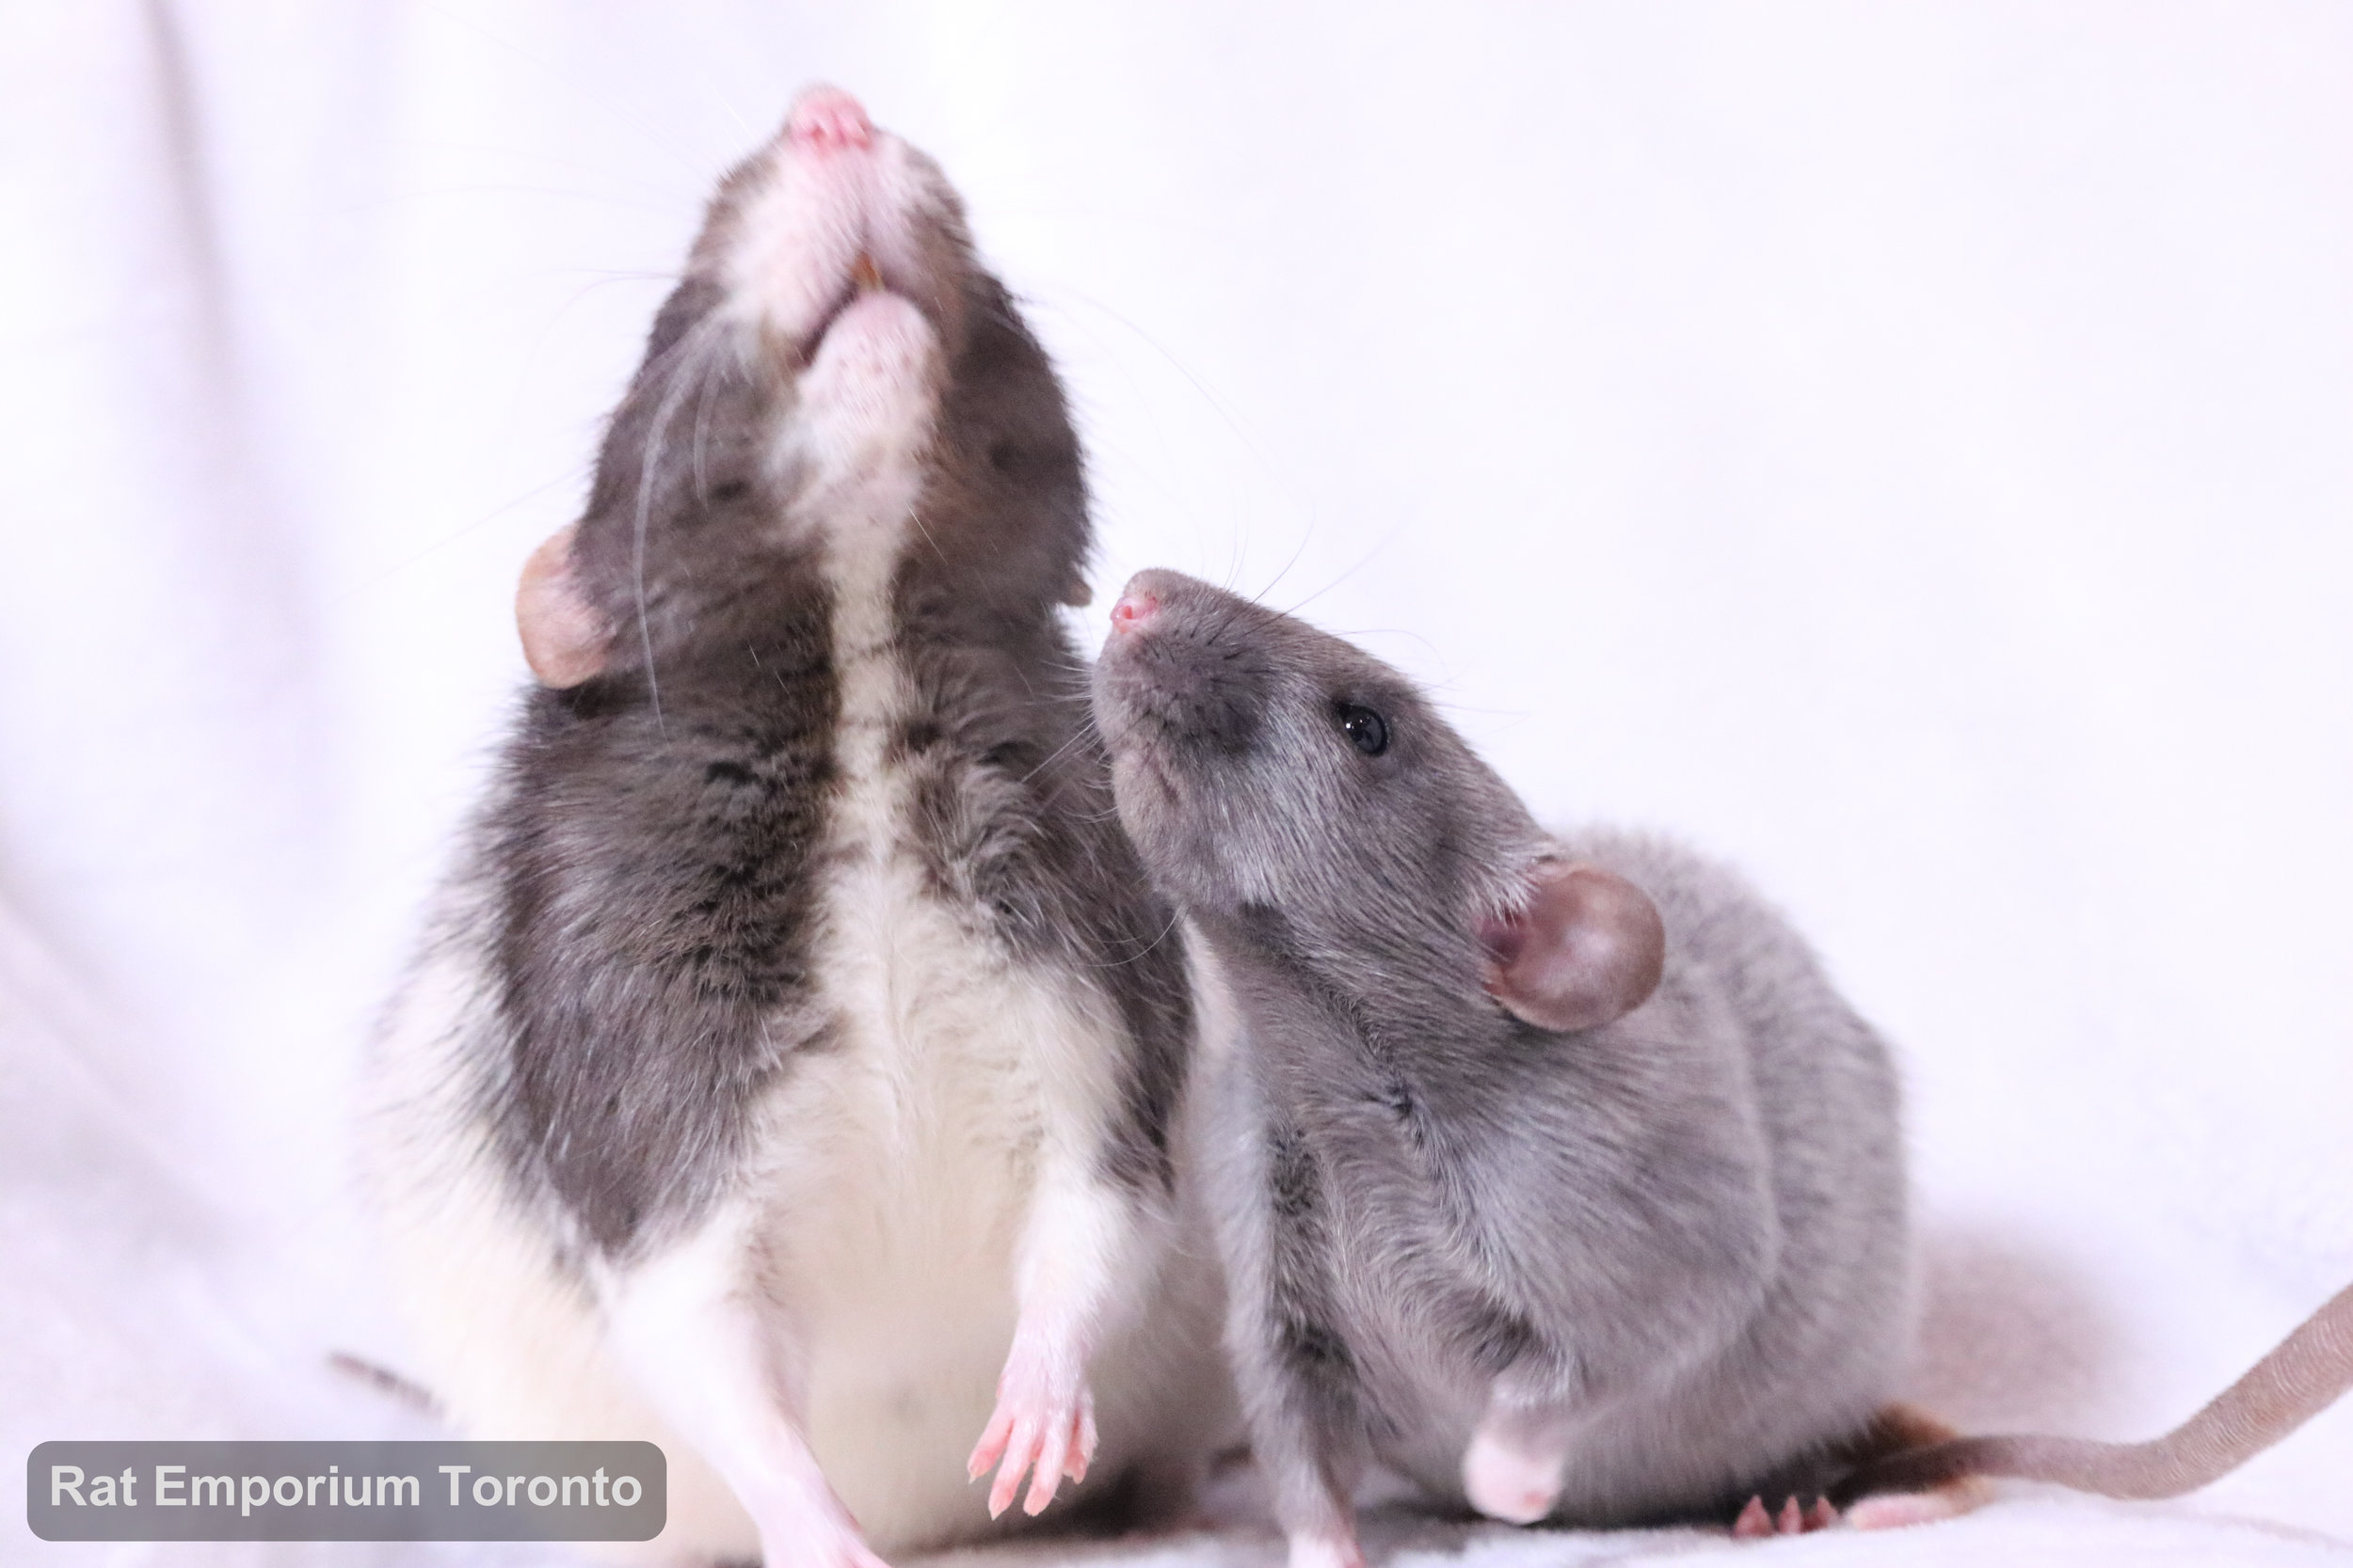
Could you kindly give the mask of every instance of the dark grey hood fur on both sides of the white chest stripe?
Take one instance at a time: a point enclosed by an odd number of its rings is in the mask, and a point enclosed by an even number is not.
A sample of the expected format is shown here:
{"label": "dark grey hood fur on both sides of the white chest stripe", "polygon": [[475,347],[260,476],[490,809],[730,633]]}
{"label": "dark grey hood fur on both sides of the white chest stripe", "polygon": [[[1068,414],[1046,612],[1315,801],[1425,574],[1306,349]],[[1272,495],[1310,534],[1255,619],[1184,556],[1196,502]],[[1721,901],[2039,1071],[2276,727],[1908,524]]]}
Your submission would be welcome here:
{"label": "dark grey hood fur on both sides of the white chest stripe", "polygon": [[[762,158],[713,200],[605,435],[572,581],[612,630],[609,661],[525,698],[466,872],[494,929],[459,940],[494,950],[504,1023],[480,1037],[480,1114],[515,1187],[605,1253],[689,1227],[736,1171],[762,1088],[833,1027],[809,976],[840,788],[824,517],[769,461],[791,374],[722,313]],[[1078,437],[944,183],[936,202],[934,292],[913,284],[951,381],[922,541],[894,585],[913,703],[892,759],[918,799],[901,851],[1014,961],[1115,1001],[1127,1103],[1104,1164],[1167,1185],[1191,1004],[1054,609],[1089,543]]]}

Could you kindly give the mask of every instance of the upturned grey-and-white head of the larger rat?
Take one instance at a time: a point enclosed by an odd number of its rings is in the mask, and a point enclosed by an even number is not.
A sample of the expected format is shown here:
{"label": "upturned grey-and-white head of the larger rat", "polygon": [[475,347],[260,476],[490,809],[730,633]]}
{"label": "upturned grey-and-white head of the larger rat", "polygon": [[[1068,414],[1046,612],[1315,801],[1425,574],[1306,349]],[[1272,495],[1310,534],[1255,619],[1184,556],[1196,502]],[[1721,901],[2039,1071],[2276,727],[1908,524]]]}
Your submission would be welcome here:
{"label": "upturned grey-and-white head of the larger rat", "polygon": [[741,642],[784,557],[901,567],[960,614],[1082,602],[1087,498],[1054,369],[929,158],[802,94],[711,202],[584,517],[522,574],[548,686]]}

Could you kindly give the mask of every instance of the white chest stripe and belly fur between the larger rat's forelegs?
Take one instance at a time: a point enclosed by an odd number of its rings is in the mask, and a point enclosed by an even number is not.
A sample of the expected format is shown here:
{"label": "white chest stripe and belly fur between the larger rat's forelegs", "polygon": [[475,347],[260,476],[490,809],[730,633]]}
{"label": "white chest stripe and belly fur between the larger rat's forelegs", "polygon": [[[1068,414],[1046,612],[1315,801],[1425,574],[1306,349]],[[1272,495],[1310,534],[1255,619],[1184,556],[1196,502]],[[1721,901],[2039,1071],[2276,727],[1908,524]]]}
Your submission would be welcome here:
{"label": "white chest stripe and belly fur between the larger rat's forelegs", "polygon": [[[887,473],[887,470],[885,470]],[[986,1528],[965,1455],[995,1403],[1014,1255],[1049,1124],[1092,1138],[1120,1058],[1078,987],[1012,964],[929,896],[889,738],[906,712],[889,585],[913,494],[868,477],[835,522],[835,797],[816,973],[831,1051],[762,1107],[767,1265],[807,1354],[809,1446],[875,1544]],[[882,1521],[892,1521],[885,1526]]]}

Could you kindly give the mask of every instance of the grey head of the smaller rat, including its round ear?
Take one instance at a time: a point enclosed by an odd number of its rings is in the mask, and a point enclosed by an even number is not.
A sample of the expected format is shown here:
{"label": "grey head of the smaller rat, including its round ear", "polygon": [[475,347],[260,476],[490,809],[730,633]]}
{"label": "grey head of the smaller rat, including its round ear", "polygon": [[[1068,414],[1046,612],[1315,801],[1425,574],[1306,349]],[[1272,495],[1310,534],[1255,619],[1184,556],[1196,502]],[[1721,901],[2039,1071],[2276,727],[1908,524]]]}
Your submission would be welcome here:
{"label": "grey head of the smaller rat, including its round ear", "polygon": [[[1325,959],[1426,969],[1548,1030],[1638,1006],[1659,914],[1567,863],[1409,679],[1174,571],[1111,611],[1094,715],[1153,882],[1224,929],[1280,919]],[[1369,959],[1369,961],[1360,961]]]}

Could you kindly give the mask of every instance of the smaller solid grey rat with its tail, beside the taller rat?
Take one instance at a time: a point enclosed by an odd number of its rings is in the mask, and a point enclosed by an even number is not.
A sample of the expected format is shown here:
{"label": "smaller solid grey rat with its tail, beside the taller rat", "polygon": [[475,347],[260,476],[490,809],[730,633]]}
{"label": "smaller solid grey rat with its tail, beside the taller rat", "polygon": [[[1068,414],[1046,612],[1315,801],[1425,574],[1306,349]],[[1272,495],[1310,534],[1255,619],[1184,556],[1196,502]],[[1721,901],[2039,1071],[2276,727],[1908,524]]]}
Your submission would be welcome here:
{"label": "smaller solid grey rat with its tail, beside the taller rat", "polygon": [[1120,820],[1233,1011],[1226,1338],[1292,1568],[1362,1561],[1372,1460],[1518,1523],[1793,1533],[1979,1474],[2172,1495],[2353,1380],[2348,1291],[2160,1443],[1934,1446],[1887,1403],[1897,1077],[1795,931],[1671,844],[1541,832],[1337,637],[1172,571],[1111,623]]}

